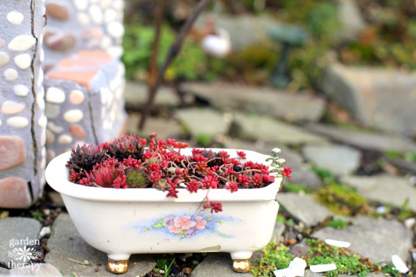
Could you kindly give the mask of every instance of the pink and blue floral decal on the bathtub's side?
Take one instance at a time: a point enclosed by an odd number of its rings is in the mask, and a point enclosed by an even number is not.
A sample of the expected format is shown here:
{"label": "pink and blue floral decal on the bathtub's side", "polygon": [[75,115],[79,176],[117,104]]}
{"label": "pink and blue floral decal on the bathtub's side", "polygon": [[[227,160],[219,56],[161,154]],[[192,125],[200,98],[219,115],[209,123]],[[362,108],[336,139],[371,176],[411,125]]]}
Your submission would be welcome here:
{"label": "pink and blue floral decal on the bathtub's side", "polygon": [[216,215],[167,215],[166,217],[158,218],[153,224],[150,223],[151,225],[146,226],[144,231],[164,231],[164,233],[175,235],[181,239],[192,238],[209,232],[220,235],[223,238],[232,238],[232,235],[221,233],[217,229],[224,221],[234,221],[234,219]]}

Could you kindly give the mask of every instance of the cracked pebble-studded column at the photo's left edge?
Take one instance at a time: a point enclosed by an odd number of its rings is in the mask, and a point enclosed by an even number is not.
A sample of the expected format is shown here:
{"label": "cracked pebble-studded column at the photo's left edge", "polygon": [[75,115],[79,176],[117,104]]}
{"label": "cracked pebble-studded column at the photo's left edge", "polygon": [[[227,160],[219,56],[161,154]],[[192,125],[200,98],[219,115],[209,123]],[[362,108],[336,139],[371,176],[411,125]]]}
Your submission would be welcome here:
{"label": "cracked pebble-studded column at the photo's left edge", "polygon": [[0,208],[26,208],[46,166],[42,0],[0,4]]}

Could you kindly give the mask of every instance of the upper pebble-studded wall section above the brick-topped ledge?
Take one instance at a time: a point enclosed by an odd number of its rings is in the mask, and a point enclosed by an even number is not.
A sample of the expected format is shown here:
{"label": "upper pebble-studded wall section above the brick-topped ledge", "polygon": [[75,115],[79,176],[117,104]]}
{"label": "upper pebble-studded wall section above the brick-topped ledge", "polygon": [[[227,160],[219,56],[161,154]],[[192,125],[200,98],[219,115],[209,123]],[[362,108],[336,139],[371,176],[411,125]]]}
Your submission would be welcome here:
{"label": "upper pebble-studded wall section above the brick-topped ledge", "polygon": [[123,0],[46,0],[45,4],[45,69],[85,49],[104,50],[112,57],[121,57]]}

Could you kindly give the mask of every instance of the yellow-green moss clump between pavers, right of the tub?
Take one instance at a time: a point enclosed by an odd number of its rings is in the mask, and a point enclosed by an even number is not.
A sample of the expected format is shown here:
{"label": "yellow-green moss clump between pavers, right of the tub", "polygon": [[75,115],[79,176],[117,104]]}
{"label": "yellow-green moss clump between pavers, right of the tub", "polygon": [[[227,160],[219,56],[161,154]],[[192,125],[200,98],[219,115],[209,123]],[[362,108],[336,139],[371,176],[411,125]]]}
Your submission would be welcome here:
{"label": "yellow-green moss clump between pavers, right of the tub", "polygon": [[353,188],[330,183],[315,192],[315,198],[333,213],[356,215],[368,213],[367,200]]}

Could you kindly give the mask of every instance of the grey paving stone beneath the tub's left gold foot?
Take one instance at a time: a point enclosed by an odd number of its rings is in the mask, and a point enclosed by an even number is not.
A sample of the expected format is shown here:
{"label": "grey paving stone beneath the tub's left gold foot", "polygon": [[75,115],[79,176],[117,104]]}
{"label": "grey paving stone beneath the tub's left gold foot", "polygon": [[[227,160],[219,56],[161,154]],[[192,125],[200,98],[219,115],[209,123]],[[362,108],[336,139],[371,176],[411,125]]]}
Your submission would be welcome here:
{"label": "grey paving stone beneath the tub's left gold foot", "polygon": [[[72,239],[71,239],[72,238]],[[67,213],[61,213],[52,226],[52,235],[48,240],[50,252],[45,262],[54,265],[65,276],[75,272],[77,276],[113,276],[107,271],[107,255],[98,251],[80,237]],[[78,265],[68,258],[83,261],[88,260],[92,266]],[[97,265],[101,264],[101,267]],[[128,276],[144,276],[151,271],[156,262],[147,255],[132,255],[130,257]],[[96,268],[100,270],[95,271]]]}

